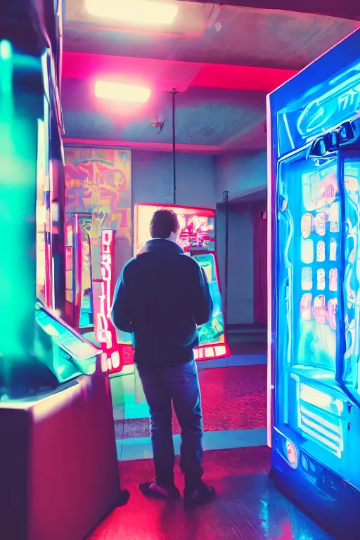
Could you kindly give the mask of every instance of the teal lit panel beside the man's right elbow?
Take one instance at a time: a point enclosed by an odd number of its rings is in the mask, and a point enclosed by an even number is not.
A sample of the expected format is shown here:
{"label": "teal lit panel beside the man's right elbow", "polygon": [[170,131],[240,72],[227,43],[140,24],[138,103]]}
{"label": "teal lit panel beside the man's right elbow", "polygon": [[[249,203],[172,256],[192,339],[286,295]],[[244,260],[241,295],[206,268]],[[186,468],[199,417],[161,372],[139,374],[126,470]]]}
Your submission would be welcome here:
{"label": "teal lit panel beside the man's right elbow", "polygon": [[194,259],[205,271],[207,281],[209,282],[212,303],[214,304],[210,321],[199,326],[199,345],[224,343],[224,316],[221,308],[221,294],[219,282],[217,281],[214,255],[212,253],[195,255]]}

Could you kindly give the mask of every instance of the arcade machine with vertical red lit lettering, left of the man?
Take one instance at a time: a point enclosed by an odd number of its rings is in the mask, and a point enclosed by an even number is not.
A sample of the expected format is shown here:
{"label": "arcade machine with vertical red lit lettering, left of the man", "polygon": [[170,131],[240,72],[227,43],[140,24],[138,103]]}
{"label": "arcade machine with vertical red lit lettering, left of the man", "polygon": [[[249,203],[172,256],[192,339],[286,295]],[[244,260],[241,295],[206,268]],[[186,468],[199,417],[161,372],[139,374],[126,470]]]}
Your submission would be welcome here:
{"label": "arcade machine with vertical red lit lettering, left of the man", "polygon": [[115,231],[106,210],[75,213],[65,224],[65,311],[72,328],[106,354],[109,374],[132,357],[131,337],[120,340],[111,321],[115,288]]}

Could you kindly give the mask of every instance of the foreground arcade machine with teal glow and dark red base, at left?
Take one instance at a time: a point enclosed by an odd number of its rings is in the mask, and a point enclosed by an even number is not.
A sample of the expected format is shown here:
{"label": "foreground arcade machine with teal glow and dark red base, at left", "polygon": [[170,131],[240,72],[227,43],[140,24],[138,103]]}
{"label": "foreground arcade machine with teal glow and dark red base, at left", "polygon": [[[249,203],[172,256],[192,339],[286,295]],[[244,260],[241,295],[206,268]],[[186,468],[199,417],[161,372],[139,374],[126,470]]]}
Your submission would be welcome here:
{"label": "foreground arcade machine with teal glow and dark red base, at left", "polygon": [[0,537],[82,540],[122,494],[107,366],[53,310],[61,6],[39,4],[1,14]]}

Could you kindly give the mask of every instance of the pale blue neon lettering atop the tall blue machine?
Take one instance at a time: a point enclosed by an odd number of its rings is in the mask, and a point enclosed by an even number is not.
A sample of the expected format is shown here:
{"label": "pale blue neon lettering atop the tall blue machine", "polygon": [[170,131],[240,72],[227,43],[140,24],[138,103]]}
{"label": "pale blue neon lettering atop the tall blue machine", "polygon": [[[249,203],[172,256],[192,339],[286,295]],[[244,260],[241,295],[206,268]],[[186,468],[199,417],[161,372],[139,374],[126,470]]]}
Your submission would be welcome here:
{"label": "pale blue neon lettering atop the tall blue machine", "polygon": [[297,120],[297,130],[304,138],[325,132],[343,122],[354,120],[360,109],[360,64],[330,82],[342,83],[311,101]]}

